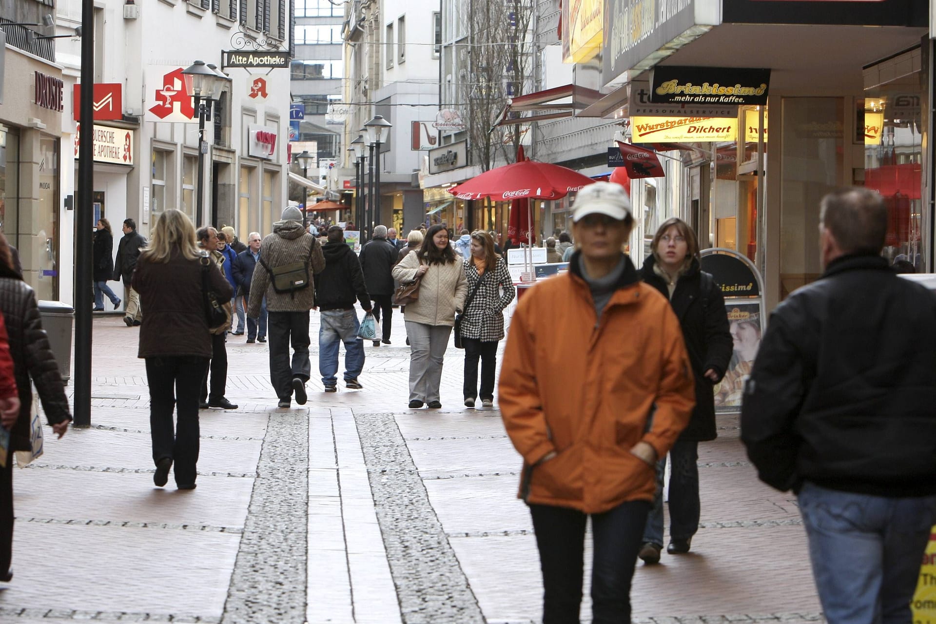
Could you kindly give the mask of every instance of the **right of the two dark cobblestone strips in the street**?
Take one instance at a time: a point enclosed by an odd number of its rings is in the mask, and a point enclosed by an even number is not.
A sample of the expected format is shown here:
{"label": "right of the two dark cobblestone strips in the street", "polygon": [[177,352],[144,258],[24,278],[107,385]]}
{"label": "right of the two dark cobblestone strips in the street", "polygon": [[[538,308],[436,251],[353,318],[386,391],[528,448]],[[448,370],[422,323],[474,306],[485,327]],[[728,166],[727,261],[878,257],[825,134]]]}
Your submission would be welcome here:
{"label": "right of the two dark cobblestone strips in the street", "polygon": [[355,414],[355,420],[403,622],[483,624],[394,415]]}

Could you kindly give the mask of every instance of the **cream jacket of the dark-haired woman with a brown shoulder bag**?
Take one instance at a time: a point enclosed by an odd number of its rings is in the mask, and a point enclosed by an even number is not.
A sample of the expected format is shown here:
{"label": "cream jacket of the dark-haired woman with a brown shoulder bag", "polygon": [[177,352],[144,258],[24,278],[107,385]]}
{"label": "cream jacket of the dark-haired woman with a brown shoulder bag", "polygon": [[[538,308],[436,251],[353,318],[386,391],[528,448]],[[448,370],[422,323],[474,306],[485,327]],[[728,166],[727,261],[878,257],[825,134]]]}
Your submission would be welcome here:
{"label": "cream jacket of the dark-haired woman with a brown shoulder bag", "polygon": [[[419,268],[417,252],[408,254],[393,268],[393,279],[409,282]],[[407,321],[431,326],[455,325],[455,312],[461,312],[468,283],[461,261],[430,265],[419,284],[419,298],[406,304],[403,317]]]}

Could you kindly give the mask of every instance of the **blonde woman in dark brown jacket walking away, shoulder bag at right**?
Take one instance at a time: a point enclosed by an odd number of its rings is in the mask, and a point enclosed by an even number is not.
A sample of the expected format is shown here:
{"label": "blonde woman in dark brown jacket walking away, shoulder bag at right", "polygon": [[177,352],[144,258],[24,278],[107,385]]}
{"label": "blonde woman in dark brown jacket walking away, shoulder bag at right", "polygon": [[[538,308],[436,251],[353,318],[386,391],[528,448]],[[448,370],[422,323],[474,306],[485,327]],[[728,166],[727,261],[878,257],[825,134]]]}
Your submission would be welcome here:
{"label": "blonde woman in dark brown jacket walking away, shoulder bag at right", "polygon": [[[179,489],[196,485],[198,391],[212,356],[203,272],[218,302],[229,301],[231,285],[208,254],[198,250],[192,222],[180,210],[164,211],[133,274],[133,289],[147,310],[139,332],[139,357],[146,359],[156,465],[153,483],[160,487],[166,485],[173,461]],[[178,414],[176,428],[173,407]]]}

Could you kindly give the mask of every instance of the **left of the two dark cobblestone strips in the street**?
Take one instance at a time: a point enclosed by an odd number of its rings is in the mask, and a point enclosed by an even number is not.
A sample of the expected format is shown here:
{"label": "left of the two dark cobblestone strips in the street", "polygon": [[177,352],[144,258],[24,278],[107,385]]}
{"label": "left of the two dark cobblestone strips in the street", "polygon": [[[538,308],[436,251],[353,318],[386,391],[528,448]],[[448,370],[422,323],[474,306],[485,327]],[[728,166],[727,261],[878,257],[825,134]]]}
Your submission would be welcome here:
{"label": "left of the two dark cobblestone strips in the street", "polygon": [[227,590],[224,624],[302,624],[308,560],[309,411],[270,414]]}

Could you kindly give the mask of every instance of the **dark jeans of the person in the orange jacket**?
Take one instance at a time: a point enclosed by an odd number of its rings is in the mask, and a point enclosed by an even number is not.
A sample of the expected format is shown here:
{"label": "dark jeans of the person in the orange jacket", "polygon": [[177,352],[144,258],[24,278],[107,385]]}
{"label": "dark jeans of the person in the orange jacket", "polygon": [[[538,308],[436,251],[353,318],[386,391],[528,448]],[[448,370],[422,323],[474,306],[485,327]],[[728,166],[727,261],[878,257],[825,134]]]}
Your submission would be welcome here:
{"label": "dark jeans of the person in the orange jacket", "polygon": [[[631,621],[631,579],[648,501],[626,501],[592,514],[592,624]],[[582,602],[585,524],[575,509],[530,505],[543,571],[543,624],[578,624]]]}

